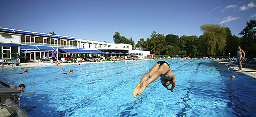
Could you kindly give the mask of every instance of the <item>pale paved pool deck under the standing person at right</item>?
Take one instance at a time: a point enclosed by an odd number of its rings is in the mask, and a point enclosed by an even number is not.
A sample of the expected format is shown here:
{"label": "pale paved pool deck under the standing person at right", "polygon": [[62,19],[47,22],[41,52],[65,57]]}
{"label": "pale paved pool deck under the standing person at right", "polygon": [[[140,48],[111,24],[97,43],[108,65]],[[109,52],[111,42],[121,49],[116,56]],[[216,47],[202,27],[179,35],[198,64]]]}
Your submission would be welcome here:
{"label": "pale paved pool deck under the standing person at right", "polygon": [[[231,69],[234,68],[235,70],[238,70],[238,65],[237,63],[229,63],[229,62],[224,62],[224,61],[215,61],[221,64],[224,64],[225,66],[230,66]],[[256,79],[256,69],[255,68],[251,68],[249,66],[242,66],[242,71],[241,73]]]}

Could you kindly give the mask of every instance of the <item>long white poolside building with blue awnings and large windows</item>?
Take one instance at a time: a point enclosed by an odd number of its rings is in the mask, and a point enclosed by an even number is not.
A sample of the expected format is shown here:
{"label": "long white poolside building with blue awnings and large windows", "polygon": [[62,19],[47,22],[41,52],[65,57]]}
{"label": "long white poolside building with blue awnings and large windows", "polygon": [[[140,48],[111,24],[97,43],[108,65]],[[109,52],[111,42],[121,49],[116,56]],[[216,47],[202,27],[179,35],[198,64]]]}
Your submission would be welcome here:
{"label": "long white poolside building with blue awnings and large windows", "polygon": [[[64,54],[58,54],[58,57],[67,57],[71,54],[98,54],[103,56],[103,52],[115,52],[122,54],[111,54],[111,56],[125,56],[125,53],[135,53],[140,58],[145,58],[150,55],[150,51],[133,50],[130,44],[116,44],[99,41],[76,39],[69,36],[51,35],[46,33],[38,33],[24,30],[16,30],[0,27],[0,52],[1,59],[13,60],[24,59],[22,51],[29,51],[32,54],[27,54],[26,59],[38,60],[50,57],[51,52],[58,50]],[[67,50],[72,50],[67,52]],[[90,52],[80,52],[81,50],[92,50]],[[79,52],[76,52],[79,51]]]}

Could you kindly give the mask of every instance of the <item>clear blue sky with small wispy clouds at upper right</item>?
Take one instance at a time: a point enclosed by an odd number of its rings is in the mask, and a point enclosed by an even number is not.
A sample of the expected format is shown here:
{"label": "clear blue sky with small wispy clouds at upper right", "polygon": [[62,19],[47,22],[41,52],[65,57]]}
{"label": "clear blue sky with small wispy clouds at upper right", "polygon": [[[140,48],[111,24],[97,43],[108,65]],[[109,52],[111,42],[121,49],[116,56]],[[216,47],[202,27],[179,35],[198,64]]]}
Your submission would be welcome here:
{"label": "clear blue sky with small wispy clouds at upper right", "polygon": [[0,27],[113,42],[119,32],[135,43],[160,34],[202,35],[203,24],[233,35],[256,19],[256,0],[3,0]]}

